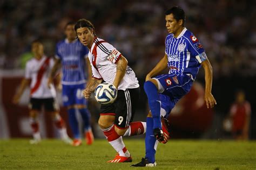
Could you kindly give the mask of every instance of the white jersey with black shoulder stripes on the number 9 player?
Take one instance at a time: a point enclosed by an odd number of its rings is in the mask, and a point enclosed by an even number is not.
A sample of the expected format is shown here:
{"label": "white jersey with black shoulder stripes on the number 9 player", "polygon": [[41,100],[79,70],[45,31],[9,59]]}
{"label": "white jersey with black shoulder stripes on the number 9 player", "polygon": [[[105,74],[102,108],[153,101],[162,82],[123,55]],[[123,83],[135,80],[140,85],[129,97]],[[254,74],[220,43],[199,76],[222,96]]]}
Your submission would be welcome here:
{"label": "white jersey with black shoulder stripes on the number 9 player", "polygon": [[[122,54],[103,39],[95,38],[88,57],[92,66],[92,77],[113,83],[117,72],[117,62]],[[123,80],[118,90],[134,89],[139,87],[138,79],[132,68],[127,66]]]}

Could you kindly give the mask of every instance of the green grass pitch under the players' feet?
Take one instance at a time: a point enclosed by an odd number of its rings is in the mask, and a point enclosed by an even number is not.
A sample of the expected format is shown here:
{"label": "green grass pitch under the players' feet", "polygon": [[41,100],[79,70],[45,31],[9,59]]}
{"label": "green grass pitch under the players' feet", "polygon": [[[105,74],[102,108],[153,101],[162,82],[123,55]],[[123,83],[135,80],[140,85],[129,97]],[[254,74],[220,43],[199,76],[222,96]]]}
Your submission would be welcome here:
{"label": "green grass pitch under the players' feet", "polygon": [[[124,139],[137,163],[144,157],[143,139]],[[0,140],[0,169],[138,169],[132,163],[106,163],[116,152],[106,140],[73,147],[60,140],[30,145],[28,139]],[[159,144],[157,167],[144,169],[256,169],[255,141],[170,140]]]}

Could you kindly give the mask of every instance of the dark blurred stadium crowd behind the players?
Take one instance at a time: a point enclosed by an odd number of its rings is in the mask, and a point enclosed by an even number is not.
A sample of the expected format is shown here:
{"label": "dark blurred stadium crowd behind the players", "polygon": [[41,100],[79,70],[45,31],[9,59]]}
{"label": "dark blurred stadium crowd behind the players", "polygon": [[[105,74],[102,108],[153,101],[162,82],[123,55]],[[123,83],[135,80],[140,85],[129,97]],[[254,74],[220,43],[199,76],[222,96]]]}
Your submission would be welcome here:
{"label": "dark blurred stadium crowd behind the players", "polygon": [[[43,37],[47,45],[48,51],[45,53],[54,55],[65,23],[70,19],[76,21],[86,17],[101,28],[96,30],[100,37],[129,56],[127,59],[134,72],[138,77],[143,77],[163,55],[163,42],[167,34],[163,13],[175,4],[186,11],[189,9],[187,27],[198,35],[211,56],[214,79],[232,75],[254,76],[256,25],[248,21],[255,20],[252,4],[255,2],[202,2],[1,1],[0,68],[19,68],[19,56],[28,52],[31,41],[39,37]],[[107,4],[111,4],[115,10],[103,8]],[[204,15],[208,12],[211,15]]]}

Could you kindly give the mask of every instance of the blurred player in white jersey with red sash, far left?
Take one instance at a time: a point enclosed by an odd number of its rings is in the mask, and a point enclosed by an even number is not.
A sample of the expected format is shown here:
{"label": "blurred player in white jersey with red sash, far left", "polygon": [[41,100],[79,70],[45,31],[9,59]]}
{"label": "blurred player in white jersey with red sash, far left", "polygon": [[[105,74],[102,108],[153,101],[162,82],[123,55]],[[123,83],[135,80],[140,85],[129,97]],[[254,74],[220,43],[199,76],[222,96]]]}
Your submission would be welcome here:
{"label": "blurred player in white jersey with red sash, far left", "polygon": [[29,116],[30,125],[33,130],[33,140],[31,144],[36,144],[41,141],[39,132],[39,124],[37,116],[44,106],[46,114],[52,114],[55,125],[59,131],[60,137],[66,143],[71,143],[72,140],[66,133],[65,123],[59,115],[59,107],[56,102],[56,91],[53,84],[48,87],[48,77],[51,68],[53,67],[53,59],[44,55],[43,44],[40,41],[33,41],[31,51],[33,58],[26,62],[25,77],[21,82],[21,86],[13,98],[13,102],[17,104],[25,90],[30,83],[30,103],[29,103]]}

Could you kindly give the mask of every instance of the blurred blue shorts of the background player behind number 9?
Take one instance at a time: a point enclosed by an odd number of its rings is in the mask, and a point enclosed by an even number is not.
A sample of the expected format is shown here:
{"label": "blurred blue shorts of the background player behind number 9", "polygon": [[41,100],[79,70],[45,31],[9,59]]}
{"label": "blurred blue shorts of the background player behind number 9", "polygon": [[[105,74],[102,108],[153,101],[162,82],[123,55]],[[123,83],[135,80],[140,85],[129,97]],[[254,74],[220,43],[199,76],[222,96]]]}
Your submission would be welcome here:
{"label": "blurred blue shorts of the background player behind number 9", "polygon": [[74,104],[87,105],[87,100],[84,98],[83,90],[85,84],[62,85],[62,100],[63,105],[70,106]]}

